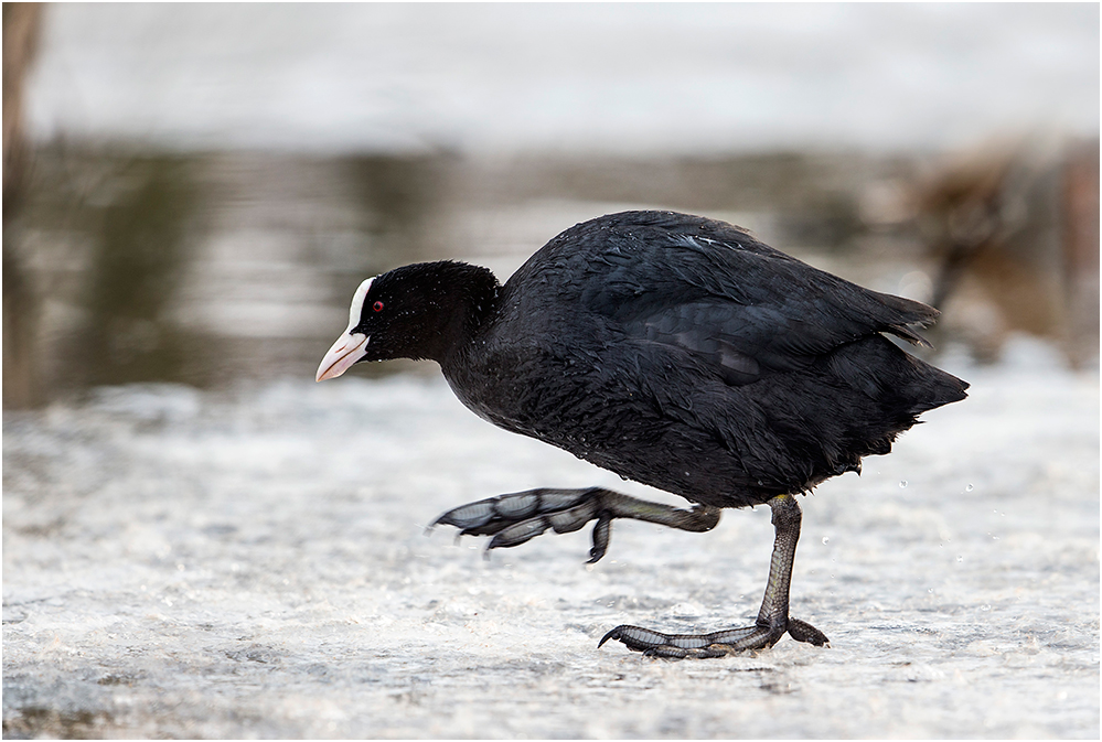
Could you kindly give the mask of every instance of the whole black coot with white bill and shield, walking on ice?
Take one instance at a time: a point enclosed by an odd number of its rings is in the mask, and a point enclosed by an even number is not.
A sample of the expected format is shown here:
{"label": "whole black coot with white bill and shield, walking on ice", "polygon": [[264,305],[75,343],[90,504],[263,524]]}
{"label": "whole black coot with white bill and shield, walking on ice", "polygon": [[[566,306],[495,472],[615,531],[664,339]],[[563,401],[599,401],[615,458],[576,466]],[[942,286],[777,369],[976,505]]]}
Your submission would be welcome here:
{"label": "whole black coot with white bill and shield, walking on ice", "polygon": [[710,530],[721,508],[768,503],[773,557],[753,626],[704,635],[617,626],[601,644],[664,657],[718,657],[785,633],[800,506],[794,495],[859,472],[921,412],[967,384],[891,343],[938,311],[816,270],[738,227],[673,212],[624,212],[552,239],[500,284],[462,262],[406,266],[364,281],[318,380],[361,361],[431,358],[490,422],[694,503],[609,490],[531,490],[440,516],[517,546],[590,520],[590,562],[614,518]]}

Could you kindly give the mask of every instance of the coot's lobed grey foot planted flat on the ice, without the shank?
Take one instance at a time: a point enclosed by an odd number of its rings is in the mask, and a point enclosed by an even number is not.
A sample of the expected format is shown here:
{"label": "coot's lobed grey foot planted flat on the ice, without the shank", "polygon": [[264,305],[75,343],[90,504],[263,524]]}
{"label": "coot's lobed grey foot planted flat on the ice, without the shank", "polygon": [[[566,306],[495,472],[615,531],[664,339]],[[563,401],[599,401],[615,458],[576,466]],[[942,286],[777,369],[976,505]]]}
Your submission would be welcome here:
{"label": "coot's lobed grey foot planted flat on the ice, without the shank", "polygon": [[712,634],[663,634],[640,626],[617,626],[601,638],[601,647],[616,639],[632,652],[670,659],[706,659],[771,647],[788,633],[798,642],[815,646],[828,644],[826,635],[803,621],[789,620],[787,630],[778,626],[745,626]]}

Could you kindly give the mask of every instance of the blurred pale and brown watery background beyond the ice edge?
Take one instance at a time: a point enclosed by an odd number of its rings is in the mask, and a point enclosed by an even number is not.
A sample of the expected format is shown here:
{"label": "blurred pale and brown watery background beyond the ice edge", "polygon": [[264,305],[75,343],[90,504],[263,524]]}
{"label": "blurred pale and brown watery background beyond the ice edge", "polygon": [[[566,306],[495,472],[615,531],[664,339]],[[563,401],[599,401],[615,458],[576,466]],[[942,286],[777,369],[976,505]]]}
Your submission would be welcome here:
{"label": "blurred pale and brown watery background beyond the ice edge", "polygon": [[4,13],[7,406],[304,377],[363,277],[636,207],[1098,354],[1090,4]]}

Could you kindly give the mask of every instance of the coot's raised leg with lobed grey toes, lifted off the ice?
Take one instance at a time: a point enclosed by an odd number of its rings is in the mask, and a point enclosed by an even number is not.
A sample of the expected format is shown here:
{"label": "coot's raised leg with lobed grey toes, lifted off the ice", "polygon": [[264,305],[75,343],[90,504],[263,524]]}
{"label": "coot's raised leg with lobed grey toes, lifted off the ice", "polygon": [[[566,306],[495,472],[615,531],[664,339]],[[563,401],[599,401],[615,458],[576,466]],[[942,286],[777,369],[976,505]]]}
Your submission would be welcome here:
{"label": "coot's raised leg with lobed grey toes, lifted off the ice", "polygon": [[460,536],[493,536],[490,549],[520,546],[548,528],[556,534],[578,530],[590,520],[593,526],[592,563],[605,556],[612,536],[613,518],[646,520],[682,530],[712,530],[719,523],[719,508],[696,505],[682,509],[621,495],[611,490],[528,490],[499,495],[448,510],[429,526],[443,524],[459,528]]}

